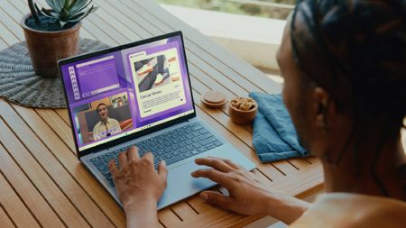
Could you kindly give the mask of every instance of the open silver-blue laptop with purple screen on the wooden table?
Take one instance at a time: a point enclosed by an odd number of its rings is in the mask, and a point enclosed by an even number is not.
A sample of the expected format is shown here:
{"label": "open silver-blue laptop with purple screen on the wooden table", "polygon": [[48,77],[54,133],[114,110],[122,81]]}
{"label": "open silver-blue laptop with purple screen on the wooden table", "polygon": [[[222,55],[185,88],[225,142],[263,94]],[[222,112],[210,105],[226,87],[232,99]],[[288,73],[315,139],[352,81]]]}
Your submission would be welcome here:
{"label": "open silver-blue laptop with purple screen on the wooden table", "polygon": [[254,169],[254,163],[198,118],[181,32],[100,50],[58,62],[78,159],[121,205],[107,168],[135,145],[140,156],[165,160],[168,187],[158,208],[213,187],[191,178],[194,160],[218,157]]}

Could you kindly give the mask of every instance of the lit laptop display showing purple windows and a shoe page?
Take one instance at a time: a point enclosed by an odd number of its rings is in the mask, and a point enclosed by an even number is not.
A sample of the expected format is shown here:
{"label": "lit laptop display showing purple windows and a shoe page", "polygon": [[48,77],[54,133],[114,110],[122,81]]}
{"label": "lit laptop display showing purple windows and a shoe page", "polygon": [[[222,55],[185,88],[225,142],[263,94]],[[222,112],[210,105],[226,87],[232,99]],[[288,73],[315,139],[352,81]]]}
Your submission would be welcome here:
{"label": "lit laptop display showing purple windows and a shoe page", "polygon": [[78,150],[194,112],[181,34],[61,63]]}

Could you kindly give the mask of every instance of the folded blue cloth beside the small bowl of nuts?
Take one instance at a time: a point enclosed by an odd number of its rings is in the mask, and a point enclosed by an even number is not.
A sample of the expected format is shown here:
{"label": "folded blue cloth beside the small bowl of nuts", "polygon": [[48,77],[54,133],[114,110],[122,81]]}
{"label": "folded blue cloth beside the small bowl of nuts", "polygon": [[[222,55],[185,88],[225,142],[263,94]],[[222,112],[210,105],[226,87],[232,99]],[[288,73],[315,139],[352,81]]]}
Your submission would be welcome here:
{"label": "folded blue cloth beside the small bowl of nuts", "polygon": [[305,157],[309,152],[300,146],[291,115],[281,95],[250,93],[258,104],[254,119],[253,142],[262,162]]}

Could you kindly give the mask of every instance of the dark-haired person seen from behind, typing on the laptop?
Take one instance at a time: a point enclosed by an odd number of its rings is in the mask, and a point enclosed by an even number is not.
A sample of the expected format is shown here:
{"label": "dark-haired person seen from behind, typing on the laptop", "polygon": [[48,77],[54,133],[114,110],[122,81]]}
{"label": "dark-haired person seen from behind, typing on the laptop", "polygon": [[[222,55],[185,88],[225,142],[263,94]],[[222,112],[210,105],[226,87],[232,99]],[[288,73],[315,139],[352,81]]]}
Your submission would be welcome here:
{"label": "dark-haired person seen from behind, typing on the laptop", "polygon": [[[200,197],[238,214],[269,214],[290,227],[406,227],[406,1],[305,0],[287,20],[277,55],[283,101],[302,146],[321,161],[326,193],[309,204],[264,186],[230,160],[202,158],[194,178],[229,196]],[[266,135],[263,135],[266,137]],[[109,168],[128,227],[159,227],[164,162],[132,148]],[[141,178],[140,178],[141,177]]]}

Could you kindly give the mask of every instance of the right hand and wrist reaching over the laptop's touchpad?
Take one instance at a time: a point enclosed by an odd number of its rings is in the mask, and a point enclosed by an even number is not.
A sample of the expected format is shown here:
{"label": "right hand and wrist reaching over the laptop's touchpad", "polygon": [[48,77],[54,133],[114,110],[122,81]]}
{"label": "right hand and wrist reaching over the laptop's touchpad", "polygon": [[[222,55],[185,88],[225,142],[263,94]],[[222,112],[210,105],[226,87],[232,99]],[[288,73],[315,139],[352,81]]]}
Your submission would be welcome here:
{"label": "right hand and wrist reaching over the laptop's touchpad", "polygon": [[191,175],[194,178],[209,178],[226,187],[230,196],[215,191],[203,191],[200,197],[209,204],[217,205],[238,214],[269,214],[291,223],[296,220],[309,204],[292,196],[272,191],[255,177],[230,160],[216,158],[197,159],[198,165],[210,167],[198,169]]}

